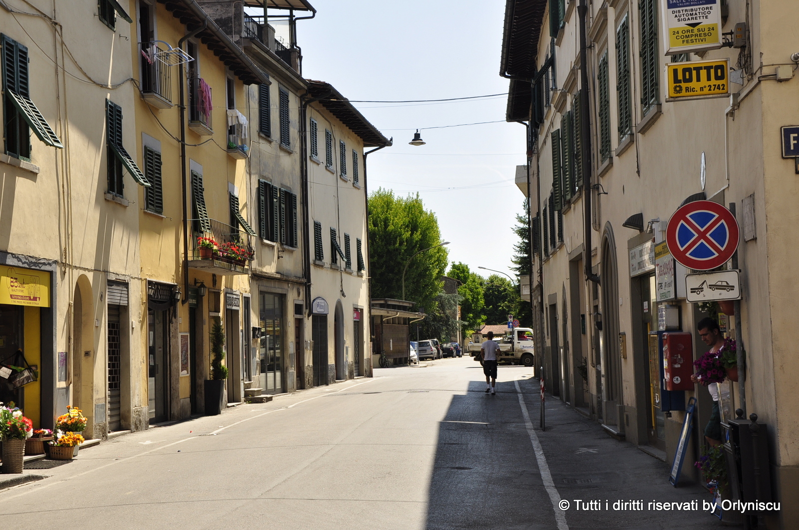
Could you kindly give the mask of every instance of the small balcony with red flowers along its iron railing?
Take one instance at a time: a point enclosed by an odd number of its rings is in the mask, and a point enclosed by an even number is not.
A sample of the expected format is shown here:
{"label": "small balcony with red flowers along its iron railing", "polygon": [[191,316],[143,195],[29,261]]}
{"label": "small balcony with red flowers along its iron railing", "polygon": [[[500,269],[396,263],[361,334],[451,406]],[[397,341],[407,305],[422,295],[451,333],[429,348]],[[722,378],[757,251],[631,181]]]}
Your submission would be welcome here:
{"label": "small balcony with red flowers along its iron railing", "polygon": [[250,236],[215,219],[189,220],[189,267],[217,275],[245,275],[254,251]]}

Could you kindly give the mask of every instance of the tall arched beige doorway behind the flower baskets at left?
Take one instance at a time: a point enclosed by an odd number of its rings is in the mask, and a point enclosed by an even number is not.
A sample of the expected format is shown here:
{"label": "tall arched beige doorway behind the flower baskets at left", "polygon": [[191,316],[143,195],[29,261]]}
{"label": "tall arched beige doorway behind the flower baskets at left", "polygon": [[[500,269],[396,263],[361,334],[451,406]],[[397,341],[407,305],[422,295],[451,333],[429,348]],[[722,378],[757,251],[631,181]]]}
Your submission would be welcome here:
{"label": "tall arched beige doorway behind the flower baskets at left", "polygon": [[[94,430],[94,304],[92,287],[85,275],[78,278],[72,304],[72,405],[89,420],[83,436]],[[63,414],[66,410],[57,410]]]}

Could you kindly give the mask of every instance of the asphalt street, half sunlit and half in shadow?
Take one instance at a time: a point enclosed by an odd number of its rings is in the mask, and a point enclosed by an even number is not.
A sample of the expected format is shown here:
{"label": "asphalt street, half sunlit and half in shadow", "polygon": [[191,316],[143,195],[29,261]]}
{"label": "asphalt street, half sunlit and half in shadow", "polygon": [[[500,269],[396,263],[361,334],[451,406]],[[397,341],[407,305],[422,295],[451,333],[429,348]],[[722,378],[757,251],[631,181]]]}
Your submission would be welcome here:
{"label": "asphalt street, half sunlit and half in shadow", "polygon": [[[425,366],[427,365],[427,366]],[[83,449],[0,491],[2,528],[715,528],[702,488],[559,401],[538,426],[531,369],[442,359],[241,405]],[[525,417],[521,402],[527,407]],[[539,454],[536,454],[536,445]],[[563,512],[555,505],[569,500]],[[578,500],[699,510],[578,510]],[[585,505],[586,507],[588,505]],[[557,515],[556,515],[557,514]]]}

